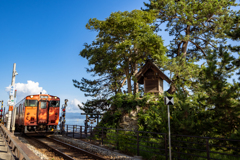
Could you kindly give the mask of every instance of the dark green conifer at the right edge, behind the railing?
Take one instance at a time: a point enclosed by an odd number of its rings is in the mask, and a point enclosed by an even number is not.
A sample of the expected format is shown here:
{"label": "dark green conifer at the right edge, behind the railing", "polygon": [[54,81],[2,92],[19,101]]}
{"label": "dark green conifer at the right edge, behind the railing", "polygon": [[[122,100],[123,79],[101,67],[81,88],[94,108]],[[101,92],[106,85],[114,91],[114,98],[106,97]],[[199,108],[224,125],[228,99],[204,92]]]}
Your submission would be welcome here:
{"label": "dark green conifer at the right edge, behind the railing", "polygon": [[[237,59],[220,47],[219,51],[208,52],[207,66],[202,67],[199,82],[199,102],[211,112],[212,134],[229,137],[240,125],[240,86],[235,80],[229,83],[239,68]],[[219,122],[221,122],[219,124]],[[240,138],[240,137],[239,137]]]}

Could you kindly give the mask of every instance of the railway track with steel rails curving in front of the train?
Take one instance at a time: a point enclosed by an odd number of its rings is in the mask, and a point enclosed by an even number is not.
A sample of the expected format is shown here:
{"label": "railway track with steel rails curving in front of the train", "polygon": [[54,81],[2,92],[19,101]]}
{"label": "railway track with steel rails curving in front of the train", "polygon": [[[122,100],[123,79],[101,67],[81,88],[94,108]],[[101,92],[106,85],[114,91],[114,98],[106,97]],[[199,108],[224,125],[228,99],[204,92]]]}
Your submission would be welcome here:
{"label": "railway track with steel rails curving in front of the train", "polygon": [[72,146],[70,144],[61,142],[57,139],[49,137],[31,137],[31,140],[34,140],[36,143],[41,144],[51,150],[58,156],[61,156],[63,159],[67,160],[106,160],[105,158],[90,153],[81,148]]}

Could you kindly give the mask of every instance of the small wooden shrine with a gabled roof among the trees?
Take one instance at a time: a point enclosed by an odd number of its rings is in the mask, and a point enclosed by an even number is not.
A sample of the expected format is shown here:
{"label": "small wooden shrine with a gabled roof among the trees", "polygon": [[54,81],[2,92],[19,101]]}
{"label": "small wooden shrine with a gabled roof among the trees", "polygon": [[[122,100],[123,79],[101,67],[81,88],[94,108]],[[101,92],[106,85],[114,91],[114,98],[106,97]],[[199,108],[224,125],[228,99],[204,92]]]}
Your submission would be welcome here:
{"label": "small wooden shrine with a gabled roof among the trees", "polygon": [[144,84],[144,93],[162,94],[163,80],[171,83],[171,80],[151,60],[146,61],[136,74],[136,78],[139,84]]}

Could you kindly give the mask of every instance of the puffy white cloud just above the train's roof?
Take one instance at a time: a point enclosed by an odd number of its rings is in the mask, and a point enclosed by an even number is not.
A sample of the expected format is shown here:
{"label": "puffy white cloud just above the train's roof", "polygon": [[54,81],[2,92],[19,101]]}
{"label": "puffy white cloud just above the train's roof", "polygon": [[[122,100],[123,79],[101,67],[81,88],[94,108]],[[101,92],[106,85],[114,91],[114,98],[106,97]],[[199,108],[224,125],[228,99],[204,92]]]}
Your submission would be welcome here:
{"label": "puffy white cloud just above the train's roof", "polygon": [[[47,93],[47,91],[44,90],[43,87],[39,87],[38,82],[33,82],[31,80],[28,80],[27,83],[16,83],[15,86],[15,89],[17,90],[17,101],[20,101],[28,95],[39,94],[40,92],[42,92],[43,94]],[[10,92],[10,87],[11,85],[6,87],[5,89],[8,94]]]}

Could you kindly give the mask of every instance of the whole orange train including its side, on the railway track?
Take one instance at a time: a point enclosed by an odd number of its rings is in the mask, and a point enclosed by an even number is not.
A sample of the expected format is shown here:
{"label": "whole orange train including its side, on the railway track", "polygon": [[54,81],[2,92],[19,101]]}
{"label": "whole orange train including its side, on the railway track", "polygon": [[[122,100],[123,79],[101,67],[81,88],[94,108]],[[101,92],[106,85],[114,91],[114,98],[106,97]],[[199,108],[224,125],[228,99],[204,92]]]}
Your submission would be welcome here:
{"label": "whole orange train including its side, on the railway track", "polygon": [[59,122],[60,98],[49,94],[29,95],[15,107],[16,131],[24,133],[54,132]]}

